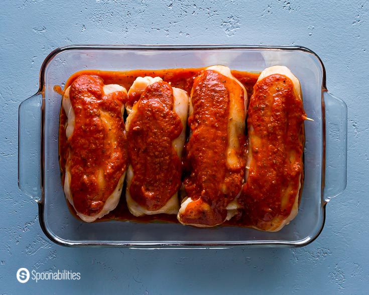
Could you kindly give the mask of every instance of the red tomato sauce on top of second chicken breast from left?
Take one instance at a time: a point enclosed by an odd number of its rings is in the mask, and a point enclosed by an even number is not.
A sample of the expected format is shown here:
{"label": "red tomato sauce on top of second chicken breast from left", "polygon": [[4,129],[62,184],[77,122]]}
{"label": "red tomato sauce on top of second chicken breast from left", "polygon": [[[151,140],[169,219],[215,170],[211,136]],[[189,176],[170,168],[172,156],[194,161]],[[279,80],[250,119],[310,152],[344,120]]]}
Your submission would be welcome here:
{"label": "red tomato sauce on top of second chicken breast from left", "polygon": [[183,129],[173,111],[173,90],[164,81],[149,85],[134,106],[128,151],[134,177],[131,197],[150,211],[162,208],[181,186],[182,162],[172,141]]}

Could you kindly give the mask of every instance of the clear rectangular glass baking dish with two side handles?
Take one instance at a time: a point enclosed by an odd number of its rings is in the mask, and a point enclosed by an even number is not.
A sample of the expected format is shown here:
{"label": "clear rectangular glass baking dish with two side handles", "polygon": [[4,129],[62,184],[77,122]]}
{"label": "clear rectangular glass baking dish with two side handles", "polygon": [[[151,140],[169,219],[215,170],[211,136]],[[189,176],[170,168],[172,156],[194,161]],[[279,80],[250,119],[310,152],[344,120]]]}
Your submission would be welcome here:
{"label": "clear rectangular glass baking dish with two side handles", "polygon": [[[262,71],[285,65],[300,79],[305,123],[305,183],[299,214],[279,232],[220,226],[199,229],[173,223],[102,221],[85,223],[70,212],[60,181],[58,122],[61,96],[53,87],[84,69],[198,68],[222,64]],[[231,247],[303,246],[322,231],[325,208],[346,187],[347,107],[325,86],[320,58],[304,47],[243,45],[65,46],[45,59],[40,87],[19,107],[19,187],[36,200],[41,227],[67,246]]]}

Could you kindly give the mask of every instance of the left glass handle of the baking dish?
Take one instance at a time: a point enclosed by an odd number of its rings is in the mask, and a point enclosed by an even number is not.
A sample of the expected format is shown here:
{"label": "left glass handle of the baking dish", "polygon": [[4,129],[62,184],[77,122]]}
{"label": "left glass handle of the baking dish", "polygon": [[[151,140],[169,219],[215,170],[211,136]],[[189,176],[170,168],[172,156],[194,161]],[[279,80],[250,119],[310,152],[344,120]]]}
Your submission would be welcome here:
{"label": "left glass handle of the baking dish", "polygon": [[34,200],[41,199],[41,119],[42,93],[19,106],[18,186]]}

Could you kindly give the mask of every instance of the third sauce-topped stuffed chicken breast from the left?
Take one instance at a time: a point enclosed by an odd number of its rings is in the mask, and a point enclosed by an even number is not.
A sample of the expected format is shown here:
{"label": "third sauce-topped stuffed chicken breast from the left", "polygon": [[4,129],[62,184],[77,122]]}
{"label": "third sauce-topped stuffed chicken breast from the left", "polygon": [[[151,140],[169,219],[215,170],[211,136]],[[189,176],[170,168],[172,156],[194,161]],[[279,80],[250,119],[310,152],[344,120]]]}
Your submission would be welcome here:
{"label": "third sauce-topped stuffed chicken breast from the left", "polygon": [[210,227],[236,214],[245,173],[247,92],[225,66],[211,66],[194,80],[190,138],[186,146],[182,224]]}

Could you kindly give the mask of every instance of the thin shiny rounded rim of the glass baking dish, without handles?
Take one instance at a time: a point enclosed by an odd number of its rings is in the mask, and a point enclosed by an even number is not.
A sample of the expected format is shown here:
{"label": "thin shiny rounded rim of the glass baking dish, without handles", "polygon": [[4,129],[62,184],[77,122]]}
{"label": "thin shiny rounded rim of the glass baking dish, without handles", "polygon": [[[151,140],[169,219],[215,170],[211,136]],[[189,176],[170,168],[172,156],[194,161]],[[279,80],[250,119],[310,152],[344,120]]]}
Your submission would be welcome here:
{"label": "thin shiny rounded rim of the glass baking dish, without handles", "polygon": [[[111,242],[111,241],[68,241],[53,235],[47,228],[44,220],[44,132],[45,132],[45,72],[49,62],[59,53],[68,50],[158,50],[158,51],[173,51],[173,50],[234,50],[234,49],[247,49],[247,50],[280,50],[280,51],[301,51],[308,54],[312,54],[320,63],[322,69],[322,84],[321,84],[321,102],[322,102],[322,171],[321,171],[321,210],[322,210],[322,222],[319,230],[312,237],[308,236],[305,239],[298,241],[241,241],[241,242]],[[326,88],[326,72],[325,67],[320,57],[312,50],[304,46],[270,46],[270,45],[66,45],[54,49],[43,61],[39,74],[39,89],[37,94],[42,95],[41,106],[41,198],[37,201],[39,222],[44,234],[54,243],[62,246],[114,246],[114,247],[130,247],[130,248],[216,248],[216,247],[234,247],[234,246],[287,246],[287,247],[302,247],[312,243],[322,232],[326,219],[326,204],[328,201],[324,200],[324,186],[325,186],[325,142],[326,142],[326,130],[325,130],[325,105],[324,105],[324,92],[327,92]]]}

